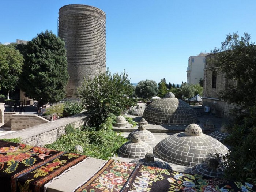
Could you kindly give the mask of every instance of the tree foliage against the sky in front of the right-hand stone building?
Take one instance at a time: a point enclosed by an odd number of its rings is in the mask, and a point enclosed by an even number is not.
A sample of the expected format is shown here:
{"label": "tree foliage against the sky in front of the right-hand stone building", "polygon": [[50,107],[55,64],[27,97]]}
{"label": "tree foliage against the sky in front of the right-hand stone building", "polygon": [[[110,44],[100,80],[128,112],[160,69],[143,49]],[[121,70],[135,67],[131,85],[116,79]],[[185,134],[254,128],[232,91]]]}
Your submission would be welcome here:
{"label": "tree foliage against the sky in front of the right-hand stone building", "polygon": [[227,79],[237,81],[237,85],[229,84],[221,91],[221,98],[245,108],[252,105],[256,95],[256,46],[250,39],[248,33],[241,38],[238,33],[229,33],[221,48],[212,50],[214,55],[209,59],[215,70],[225,74]]}

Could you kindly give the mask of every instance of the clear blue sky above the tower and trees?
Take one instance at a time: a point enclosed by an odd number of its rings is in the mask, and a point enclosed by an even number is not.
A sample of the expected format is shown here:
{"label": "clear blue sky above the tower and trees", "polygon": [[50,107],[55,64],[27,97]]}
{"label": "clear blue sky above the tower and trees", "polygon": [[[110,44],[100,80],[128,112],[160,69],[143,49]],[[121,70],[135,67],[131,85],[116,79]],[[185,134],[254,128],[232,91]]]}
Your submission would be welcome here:
{"label": "clear blue sky above the tower and trees", "polygon": [[131,83],[186,82],[188,57],[220,47],[227,33],[256,41],[255,0],[3,0],[0,42],[57,35],[59,8],[85,4],[106,13],[106,67]]}

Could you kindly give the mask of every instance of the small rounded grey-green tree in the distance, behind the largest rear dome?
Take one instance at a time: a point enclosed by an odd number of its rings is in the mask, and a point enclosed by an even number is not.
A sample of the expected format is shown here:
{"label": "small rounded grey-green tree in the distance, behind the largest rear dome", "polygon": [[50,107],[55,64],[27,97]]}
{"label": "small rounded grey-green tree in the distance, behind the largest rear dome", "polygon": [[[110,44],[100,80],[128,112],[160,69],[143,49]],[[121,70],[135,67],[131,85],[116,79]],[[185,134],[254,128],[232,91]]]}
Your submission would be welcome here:
{"label": "small rounded grey-green tree in the distance, behind the largest rear dome", "polygon": [[158,86],[153,80],[140,81],[135,88],[135,94],[138,97],[151,98],[156,96],[157,93]]}

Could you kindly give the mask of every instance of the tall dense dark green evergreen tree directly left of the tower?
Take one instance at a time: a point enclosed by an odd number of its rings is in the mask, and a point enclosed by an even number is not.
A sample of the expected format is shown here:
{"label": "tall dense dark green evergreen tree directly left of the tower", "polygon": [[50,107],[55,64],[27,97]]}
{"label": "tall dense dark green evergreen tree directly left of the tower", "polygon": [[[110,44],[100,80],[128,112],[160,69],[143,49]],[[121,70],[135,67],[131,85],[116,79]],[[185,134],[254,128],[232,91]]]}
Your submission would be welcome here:
{"label": "tall dense dark green evergreen tree directly left of the tower", "polygon": [[46,30],[24,46],[20,88],[26,97],[37,100],[38,107],[63,99],[69,78],[64,41]]}

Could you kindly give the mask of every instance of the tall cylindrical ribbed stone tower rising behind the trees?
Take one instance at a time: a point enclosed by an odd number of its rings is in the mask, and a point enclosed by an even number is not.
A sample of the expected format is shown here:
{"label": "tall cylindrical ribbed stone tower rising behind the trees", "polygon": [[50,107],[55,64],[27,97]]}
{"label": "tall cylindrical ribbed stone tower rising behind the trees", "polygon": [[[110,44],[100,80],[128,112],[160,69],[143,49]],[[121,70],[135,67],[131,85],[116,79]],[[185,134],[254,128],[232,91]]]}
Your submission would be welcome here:
{"label": "tall cylindrical ribbed stone tower rising behind the trees", "polygon": [[106,14],[88,5],[65,5],[59,10],[58,35],[67,49],[67,98],[76,98],[84,77],[106,71]]}

